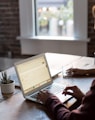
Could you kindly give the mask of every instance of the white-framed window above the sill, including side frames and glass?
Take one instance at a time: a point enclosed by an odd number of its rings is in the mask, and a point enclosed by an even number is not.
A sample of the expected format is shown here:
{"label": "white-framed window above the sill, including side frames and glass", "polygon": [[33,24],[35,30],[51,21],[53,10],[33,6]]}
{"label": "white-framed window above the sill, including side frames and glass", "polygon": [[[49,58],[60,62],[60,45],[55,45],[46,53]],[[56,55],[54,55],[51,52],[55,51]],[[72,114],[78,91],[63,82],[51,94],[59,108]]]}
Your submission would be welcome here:
{"label": "white-framed window above the sill, including side frames and glass", "polygon": [[[70,36],[74,34],[75,38],[80,40],[87,40],[87,0],[47,0],[49,3],[51,1],[66,1],[68,8],[68,15],[67,21],[64,22],[60,17],[60,19],[55,18],[41,18],[40,13],[42,14],[43,11],[47,13],[50,10],[52,12],[55,10],[57,12],[63,12],[63,8],[65,6],[63,2],[63,6],[58,5],[58,7],[54,7],[52,4],[51,6],[44,6],[44,1],[46,0],[19,0],[19,10],[20,10],[20,34],[22,38],[29,38],[35,37],[36,35],[54,35],[54,36]],[[37,3],[38,2],[38,3]],[[43,3],[43,4],[42,4]],[[55,2],[54,2],[55,3]],[[53,4],[54,4],[53,3]],[[36,5],[36,11],[34,4]],[[60,7],[59,7],[60,6]],[[73,9],[72,9],[73,8]],[[70,9],[70,10],[69,10]],[[71,12],[71,13],[69,13]],[[36,17],[35,17],[36,13]],[[58,14],[57,14],[58,15]],[[62,13],[62,15],[64,15]],[[61,16],[63,17],[63,16]],[[44,21],[44,22],[42,22]],[[57,22],[53,22],[57,21]],[[58,26],[52,27],[52,23],[56,23]],[[51,25],[50,25],[51,24]],[[44,27],[42,27],[44,26]],[[69,26],[69,29],[68,29]],[[51,27],[51,28],[50,28]],[[36,31],[36,32],[35,32]],[[52,32],[51,32],[52,31]],[[55,33],[55,31],[57,31]],[[69,32],[72,31],[72,32]],[[51,34],[52,33],[52,34]],[[75,40],[75,39],[74,39]]]}

